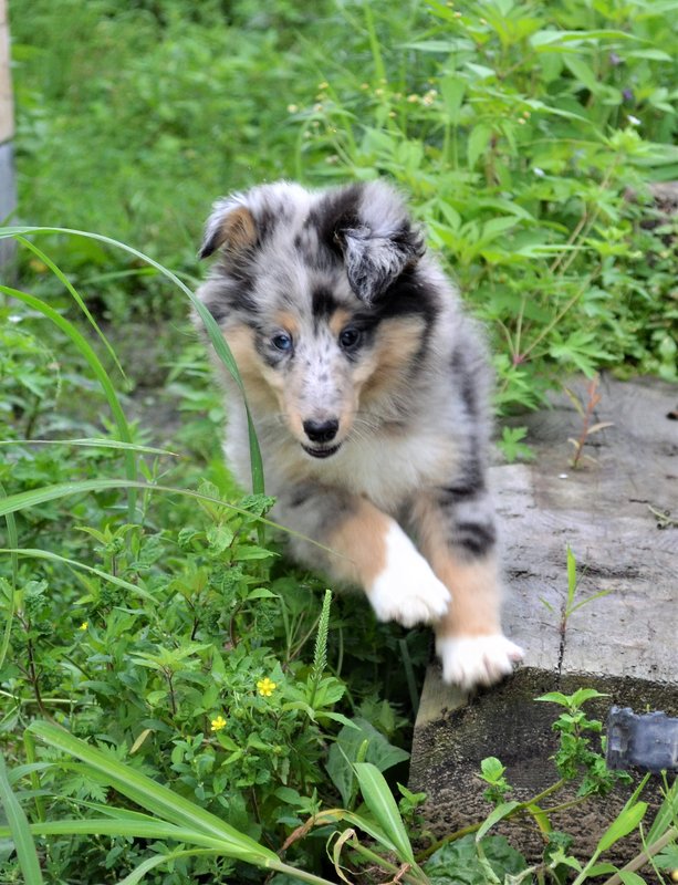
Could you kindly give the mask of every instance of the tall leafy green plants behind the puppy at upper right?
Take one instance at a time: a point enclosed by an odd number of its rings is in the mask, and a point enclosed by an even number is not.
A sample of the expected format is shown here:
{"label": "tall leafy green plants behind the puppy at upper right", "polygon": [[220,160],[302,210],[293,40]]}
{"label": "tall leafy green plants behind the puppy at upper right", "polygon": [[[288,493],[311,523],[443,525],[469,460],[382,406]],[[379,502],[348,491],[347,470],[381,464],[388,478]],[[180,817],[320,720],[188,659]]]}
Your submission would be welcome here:
{"label": "tall leafy green plants behind the puppy at upper right", "polygon": [[675,95],[655,80],[674,70],[667,9],[431,2],[398,23],[379,8],[343,12],[369,60],[357,72],[319,61],[314,103],[293,108],[299,167],[387,175],[414,195],[494,332],[499,407],[533,407],[563,371],[665,366],[675,292],[666,304],[655,256],[668,254],[627,192],[678,159]]}

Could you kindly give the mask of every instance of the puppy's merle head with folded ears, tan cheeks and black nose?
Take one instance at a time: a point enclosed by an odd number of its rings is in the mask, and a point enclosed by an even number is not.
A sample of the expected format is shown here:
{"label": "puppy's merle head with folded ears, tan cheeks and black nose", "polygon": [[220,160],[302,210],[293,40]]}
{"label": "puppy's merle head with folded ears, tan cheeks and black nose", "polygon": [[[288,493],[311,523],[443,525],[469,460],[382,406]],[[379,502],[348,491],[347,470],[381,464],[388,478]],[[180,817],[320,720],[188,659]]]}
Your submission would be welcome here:
{"label": "puppy's merle head with folded ears, tan cheeks and black nose", "polygon": [[215,252],[198,294],[260,418],[282,415],[314,458],[398,419],[436,304],[419,274],[421,233],[392,188],[236,194],[207,221],[200,256]]}

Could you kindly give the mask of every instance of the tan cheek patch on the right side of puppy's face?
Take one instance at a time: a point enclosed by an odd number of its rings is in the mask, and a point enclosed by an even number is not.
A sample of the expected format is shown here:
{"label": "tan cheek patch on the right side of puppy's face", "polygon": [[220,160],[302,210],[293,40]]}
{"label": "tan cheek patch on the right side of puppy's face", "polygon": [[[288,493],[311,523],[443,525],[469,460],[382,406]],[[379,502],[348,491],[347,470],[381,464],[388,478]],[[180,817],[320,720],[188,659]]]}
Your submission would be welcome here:
{"label": "tan cheek patch on the right side of puppy's face", "polygon": [[379,325],[373,357],[365,364],[369,367],[363,388],[366,397],[393,389],[404,379],[419,350],[423,331],[424,320],[409,316],[385,320]]}

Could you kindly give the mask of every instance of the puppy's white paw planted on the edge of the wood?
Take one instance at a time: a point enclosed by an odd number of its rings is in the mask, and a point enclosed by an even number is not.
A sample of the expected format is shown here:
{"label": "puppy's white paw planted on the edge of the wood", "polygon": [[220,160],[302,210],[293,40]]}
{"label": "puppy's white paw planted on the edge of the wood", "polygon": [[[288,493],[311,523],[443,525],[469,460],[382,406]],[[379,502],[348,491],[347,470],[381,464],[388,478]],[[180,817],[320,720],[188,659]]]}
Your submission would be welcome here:
{"label": "puppy's white paw planted on the edge of the wood", "polygon": [[523,649],[501,633],[490,636],[442,636],[436,642],[442,679],[468,690],[492,685],[513,671]]}

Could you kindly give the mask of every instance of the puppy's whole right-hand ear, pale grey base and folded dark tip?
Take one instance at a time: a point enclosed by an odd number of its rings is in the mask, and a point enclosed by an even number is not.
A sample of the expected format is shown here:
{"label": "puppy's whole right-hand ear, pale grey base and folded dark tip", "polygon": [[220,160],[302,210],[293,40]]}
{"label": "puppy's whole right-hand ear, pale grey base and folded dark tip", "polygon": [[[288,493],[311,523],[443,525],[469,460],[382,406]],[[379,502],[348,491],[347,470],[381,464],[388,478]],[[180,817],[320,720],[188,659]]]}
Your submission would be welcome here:
{"label": "puppy's whole right-hand ear, pale grey base and folded dark tip", "polygon": [[368,306],[426,251],[400,198],[382,185],[372,189],[364,191],[358,223],[337,231],[351,288]]}

